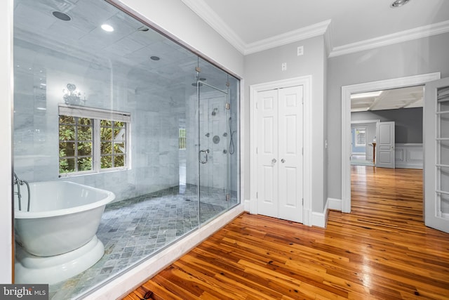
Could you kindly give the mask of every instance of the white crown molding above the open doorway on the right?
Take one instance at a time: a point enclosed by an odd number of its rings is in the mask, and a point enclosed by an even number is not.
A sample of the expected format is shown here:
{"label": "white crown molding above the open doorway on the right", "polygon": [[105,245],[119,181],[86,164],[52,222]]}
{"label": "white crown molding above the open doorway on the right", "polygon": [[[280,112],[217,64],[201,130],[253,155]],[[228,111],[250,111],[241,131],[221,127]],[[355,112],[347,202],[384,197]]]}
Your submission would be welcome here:
{"label": "white crown molding above the open doorway on the right", "polygon": [[343,56],[358,51],[370,50],[382,46],[398,44],[403,41],[411,41],[413,39],[422,39],[431,37],[436,34],[449,32],[449,20],[422,27],[416,27],[411,30],[404,30],[394,34],[387,34],[374,39],[366,39],[365,41],[357,41],[343,46],[337,46],[330,52],[329,57]]}

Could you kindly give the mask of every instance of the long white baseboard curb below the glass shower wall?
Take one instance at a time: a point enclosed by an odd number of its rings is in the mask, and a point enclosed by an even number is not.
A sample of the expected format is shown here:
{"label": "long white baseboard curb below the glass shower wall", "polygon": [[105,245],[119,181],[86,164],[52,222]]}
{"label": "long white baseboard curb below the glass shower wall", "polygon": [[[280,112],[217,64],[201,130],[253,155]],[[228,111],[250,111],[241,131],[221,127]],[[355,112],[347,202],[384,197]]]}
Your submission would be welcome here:
{"label": "long white baseboard curb below the glass shower wall", "polygon": [[232,208],[225,214],[218,216],[213,221],[210,221],[210,223],[207,223],[205,226],[189,234],[179,242],[175,242],[175,244],[172,244],[170,247],[131,268],[128,272],[118,278],[107,282],[107,284],[100,287],[100,289],[89,294],[89,299],[121,299],[142,285],[143,282],[159,273],[159,271],[170,266],[173,261],[176,261],[196,247],[196,245],[203,242],[203,240],[206,240],[210,235],[217,230],[220,230],[220,228],[229,223],[229,221],[232,221],[236,216],[239,216],[242,212],[243,205]]}

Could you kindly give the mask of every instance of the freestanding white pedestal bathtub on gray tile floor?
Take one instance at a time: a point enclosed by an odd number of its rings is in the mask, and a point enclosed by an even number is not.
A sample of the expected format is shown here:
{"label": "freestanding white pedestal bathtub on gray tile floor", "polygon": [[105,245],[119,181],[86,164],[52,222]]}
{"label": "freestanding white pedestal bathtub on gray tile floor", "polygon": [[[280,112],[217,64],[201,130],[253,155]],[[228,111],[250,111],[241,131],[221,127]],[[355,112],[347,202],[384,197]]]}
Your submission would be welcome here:
{"label": "freestanding white pedestal bathtub on gray tile floor", "polygon": [[105,205],[115,195],[69,181],[30,183],[15,197],[15,282],[54,284],[81,273],[105,252],[96,237]]}

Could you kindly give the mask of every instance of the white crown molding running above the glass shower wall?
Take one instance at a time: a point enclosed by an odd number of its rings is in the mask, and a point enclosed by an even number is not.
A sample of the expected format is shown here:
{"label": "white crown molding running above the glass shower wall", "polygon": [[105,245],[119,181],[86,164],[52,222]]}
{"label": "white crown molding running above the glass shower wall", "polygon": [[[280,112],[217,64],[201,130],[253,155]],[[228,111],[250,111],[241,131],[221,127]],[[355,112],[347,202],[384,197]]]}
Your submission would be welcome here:
{"label": "white crown molding running above the glass shower wall", "polygon": [[199,15],[210,27],[218,32],[240,53],[245,53],[246,44],[203,0],[181,0],[196,15]]}

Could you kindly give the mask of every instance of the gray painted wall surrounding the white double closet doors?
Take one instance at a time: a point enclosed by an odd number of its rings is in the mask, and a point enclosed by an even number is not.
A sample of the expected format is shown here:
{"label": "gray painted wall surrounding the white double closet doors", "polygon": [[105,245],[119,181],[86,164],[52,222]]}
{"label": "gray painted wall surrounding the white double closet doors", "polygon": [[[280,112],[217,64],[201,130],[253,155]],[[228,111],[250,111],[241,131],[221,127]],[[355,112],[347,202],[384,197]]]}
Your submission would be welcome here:
{"label": "gray painted wall surrounding the white double closet doors", "polygon": [[[297,56],[297,46],[304,46],[304,55]],[[326,51],[324,50],[323,37],[313,37],[304,41],[287,44],[266,51],[253,53],[245,57],[245,115],[244,135],[250,137],[250,85],[261,84],[269,81],[290,79],[293,77],[312,76],[312,151],[313,151],[313,174],[312,174],[312,211],[323,212],[327,199],[326,195],[326,153],[324,132],[326,121],[324,119],[325,107],[325,74],[326,74]],[[287,70],[282,71],[282,63],[287,63]],[[245,147],[244,157],[250,157],[250,148]],[[243,186],[245,195],[243,199],[250,199],[250,159],[245,160],[242,166],[245,170]]]}

